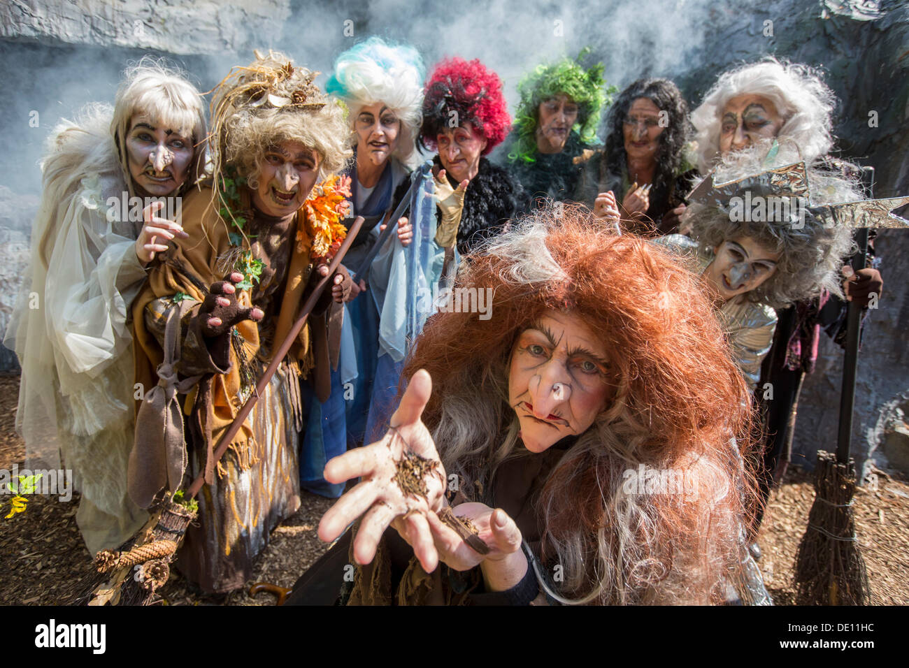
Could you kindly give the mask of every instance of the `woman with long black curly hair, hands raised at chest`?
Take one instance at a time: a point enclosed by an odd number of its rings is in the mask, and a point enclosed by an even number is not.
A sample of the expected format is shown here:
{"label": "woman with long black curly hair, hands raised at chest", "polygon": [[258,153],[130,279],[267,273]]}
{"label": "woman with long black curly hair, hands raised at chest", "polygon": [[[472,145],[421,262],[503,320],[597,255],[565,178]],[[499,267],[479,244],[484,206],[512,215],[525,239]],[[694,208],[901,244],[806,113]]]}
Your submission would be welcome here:
{"label": "woman with long black curly hair, hands raised at chest", "polygon": [[606,118],[603,155],[587,163],[578,201],[594,215],[621,204],[637,234],[669,234],[684,213],[691,166],[684,159],[688,105],[668,79],[638,79],[616,98]]}

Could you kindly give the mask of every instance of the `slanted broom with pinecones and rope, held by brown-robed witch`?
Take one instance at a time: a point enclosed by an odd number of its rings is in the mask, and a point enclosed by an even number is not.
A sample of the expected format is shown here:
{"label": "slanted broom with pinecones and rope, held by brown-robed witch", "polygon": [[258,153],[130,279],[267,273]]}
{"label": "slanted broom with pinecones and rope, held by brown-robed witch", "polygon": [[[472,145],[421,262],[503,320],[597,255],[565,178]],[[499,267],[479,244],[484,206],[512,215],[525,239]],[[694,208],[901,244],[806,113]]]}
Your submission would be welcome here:
{"label": "slanted broom with pinecones and rope, held by brown-robed witch", "polygon": [[[250,394],[243,406],[237,412],[234,422],[231,423],[215,447],[214,463],[221,459],[227,451],[231,440],[240,431],[246,416],[250,414],[258,400],[259,395],[265,392],[265,387],[271,381],[278,366],[294,344],[297,334],[306,324],[306,319],[315,308],[319,297],[325,292],[338,265],[344,259],[347,250],[353,244],[356,234],[363,224],[363,217],[357,217],[351,225],[344,243],[338,249],[335,257],[328,266],[328,274],[315,285],[315,289],[306,300],[300,314],[287,333],[285,340],[272,356],[272,361],[265,369],[265,374],[255,385],[255,392]],[[149,605],[156,602],[155,591],[165,585],[170,576],[170,563],[173,561],[177,548],[183,541],[186,529],[195,519],[198,504],[195,495],[205,484],[205,473],[198,475],[189,489],[183,494],[178,491],[174,498],[164,493],[164,498],[155,506],[155,511],[149,517],[145,526],[139,530],[134,538],[127,541],[120,550],[102,550],[95,556],[97,573],[89,575],[82,580],[87,580],[89,586],[81,593],[76,594],[71,604],[75,605]]]}

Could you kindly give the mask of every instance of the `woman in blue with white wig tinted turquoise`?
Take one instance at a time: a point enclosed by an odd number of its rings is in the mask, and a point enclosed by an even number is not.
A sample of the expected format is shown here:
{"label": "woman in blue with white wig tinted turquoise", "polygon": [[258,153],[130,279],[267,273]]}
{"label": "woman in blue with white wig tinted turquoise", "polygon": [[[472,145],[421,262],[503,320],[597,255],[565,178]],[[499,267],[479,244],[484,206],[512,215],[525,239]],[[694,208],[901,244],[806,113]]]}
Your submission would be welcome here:
{"label": "woman in blue with white wig tinted turquoise", "polygon": [[[378,240],[385,215],[391,213],[395,190],[410,174],[408,165],[415,159],[422,120],[424,76],[423,60],[413,47],[370,37],[338,56],[325,85],[327,93],[347,105],[354,131],[355,162],[345,169],[351,180],[348,221],[357,215],[365,221],[345,256],[345,266],[351,271],[362,264]],[[411,227],[405,218],[397,236],[401,244],[410,243]],[[370,283],[381,278],[372,275]],[[342,488],[322,478],[325,462],[345,452],[348,440],[357,445],[364,440],[379,340],[373,293],[354,299],[366,287],[360,277],[353,286],[352,301],[346,307],[332,306],[333,312],[345,309],[339,367],[332,371],[332,394],[327,402],[311,404],[301,462],[301,483],[316,494],[341,494]]]}

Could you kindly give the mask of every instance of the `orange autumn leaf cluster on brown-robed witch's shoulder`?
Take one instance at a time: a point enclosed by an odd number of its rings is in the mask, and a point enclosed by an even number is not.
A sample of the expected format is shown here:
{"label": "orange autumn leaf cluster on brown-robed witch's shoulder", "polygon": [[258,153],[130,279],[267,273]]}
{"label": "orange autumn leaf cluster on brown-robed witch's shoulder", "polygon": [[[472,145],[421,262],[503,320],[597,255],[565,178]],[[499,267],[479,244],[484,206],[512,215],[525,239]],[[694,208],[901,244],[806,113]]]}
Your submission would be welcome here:
{"label": "orange autumn leaf cluster on brown-robed witch's shoulder", "polygon": [[[313,188],[303,205],[306,216],[306,233],[313,240],[313,262],[328,262],[335,256],[347,235],[342,220],[350,211],[350,176],[333,174]],[[303,251],[304,230],[297,230],[297,253]]]}

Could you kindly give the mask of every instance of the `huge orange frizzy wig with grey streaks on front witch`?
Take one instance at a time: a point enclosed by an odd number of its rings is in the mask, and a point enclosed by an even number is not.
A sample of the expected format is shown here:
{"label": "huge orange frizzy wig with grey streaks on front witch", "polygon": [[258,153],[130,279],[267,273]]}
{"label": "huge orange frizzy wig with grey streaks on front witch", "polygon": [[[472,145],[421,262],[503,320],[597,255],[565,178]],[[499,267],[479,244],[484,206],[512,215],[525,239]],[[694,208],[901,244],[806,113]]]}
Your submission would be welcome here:
{"label": "huge orange frizzy wig with grey streaks on front witch", "polygon": [[[423,419],[446,471],[489,489],[506,458],[534,456],[508,404],[514,343],[549,310],[580,315],[619,382],[538,490],[544,562],[562,564],[561,594],[584,602],[722,600],[753,510],[744,461],[754,422],[697,276],[662,248],[563,206],[488,242],[456,287],[492,288],[491,317],[435,314],[404,372],[432,375]],[[641,494],[626,483],[642,465],[684,489]]]}

